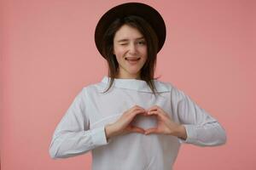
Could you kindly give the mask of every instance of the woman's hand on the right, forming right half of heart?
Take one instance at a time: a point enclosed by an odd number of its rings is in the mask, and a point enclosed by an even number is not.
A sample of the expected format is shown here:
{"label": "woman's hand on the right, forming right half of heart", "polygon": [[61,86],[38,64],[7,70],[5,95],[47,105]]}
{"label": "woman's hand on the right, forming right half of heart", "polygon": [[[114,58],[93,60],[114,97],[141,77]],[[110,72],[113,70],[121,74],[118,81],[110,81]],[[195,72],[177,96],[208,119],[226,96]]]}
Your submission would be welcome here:
{"label": "woman's hand on the right, forming right half of heart", "polygon": [[147,113],[148,116],[154,115],[157,117],[157,127],[148,128],[145,130],[145,134],[162,133],[177,136],[181,139],[187,139],[185,127],[177,122],[173,122],[172,117],[168,116],[168,114],[163,111],[160,106],[154,105],[148,109]]}

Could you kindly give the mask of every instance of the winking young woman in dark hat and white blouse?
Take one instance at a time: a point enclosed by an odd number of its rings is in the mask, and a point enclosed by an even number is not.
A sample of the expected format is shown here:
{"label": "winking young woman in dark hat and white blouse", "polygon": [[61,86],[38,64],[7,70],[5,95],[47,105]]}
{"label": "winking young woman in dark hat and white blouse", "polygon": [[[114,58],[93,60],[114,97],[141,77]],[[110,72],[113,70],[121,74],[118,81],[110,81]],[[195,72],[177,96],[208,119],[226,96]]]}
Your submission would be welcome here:
{"label": "winking young woman in dark hat and white blouse", "polygon": [[84,87],[55,129],[52,158],[92,153],[92,169],[170,170],[182,143],[224,144],[224,128],[171,83],[154,79],[166,38],[160,14],[143,3],[111,8],[96,26],[108,77]]}

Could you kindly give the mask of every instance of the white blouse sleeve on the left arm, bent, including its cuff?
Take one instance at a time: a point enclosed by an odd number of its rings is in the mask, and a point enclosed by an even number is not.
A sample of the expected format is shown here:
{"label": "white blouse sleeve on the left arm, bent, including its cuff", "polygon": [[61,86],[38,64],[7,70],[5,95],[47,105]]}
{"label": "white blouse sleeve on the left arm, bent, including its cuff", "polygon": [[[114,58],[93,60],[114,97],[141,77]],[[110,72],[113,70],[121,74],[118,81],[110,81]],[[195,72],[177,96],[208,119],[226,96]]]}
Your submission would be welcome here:
{"label": "white blouse sleeve on the left arm, bent, including its cuff", "polygon": [[55,128],[49,145],[49,155],[52,158],[77,156],[108,144],[104,127],[89,128],[89,118],[85,113],[84,91],[83,88],[73,99],[72,105]]}

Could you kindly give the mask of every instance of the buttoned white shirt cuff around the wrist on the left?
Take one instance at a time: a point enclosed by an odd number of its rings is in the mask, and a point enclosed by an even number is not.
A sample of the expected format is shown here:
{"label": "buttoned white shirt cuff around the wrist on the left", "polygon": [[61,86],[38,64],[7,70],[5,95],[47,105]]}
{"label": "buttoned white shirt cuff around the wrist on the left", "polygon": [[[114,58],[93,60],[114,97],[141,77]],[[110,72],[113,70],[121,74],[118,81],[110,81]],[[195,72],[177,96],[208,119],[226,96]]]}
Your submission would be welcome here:
{"label": "buttoned white shirt cuff around the wrist on the left", "polygon": [[105,127],[96,127],[91,129],[91,139],[95,146],[101,146],[109,143],[106,138]]}

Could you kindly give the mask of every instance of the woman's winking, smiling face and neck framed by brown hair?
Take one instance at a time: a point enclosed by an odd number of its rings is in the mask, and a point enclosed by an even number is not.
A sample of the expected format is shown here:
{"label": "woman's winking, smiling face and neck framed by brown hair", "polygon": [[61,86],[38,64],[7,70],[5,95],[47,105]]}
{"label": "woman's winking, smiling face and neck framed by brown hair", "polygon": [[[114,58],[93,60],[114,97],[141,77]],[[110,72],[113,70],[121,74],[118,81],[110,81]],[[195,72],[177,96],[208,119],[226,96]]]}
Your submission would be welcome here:
{"label": "woman's winking, smiling face and neck framed by brown hair", "polygon": [[139,79],[148,58],[145,37],[137,28],[121,26],[113,37],[113,54],[119,63],[118,78]]}

